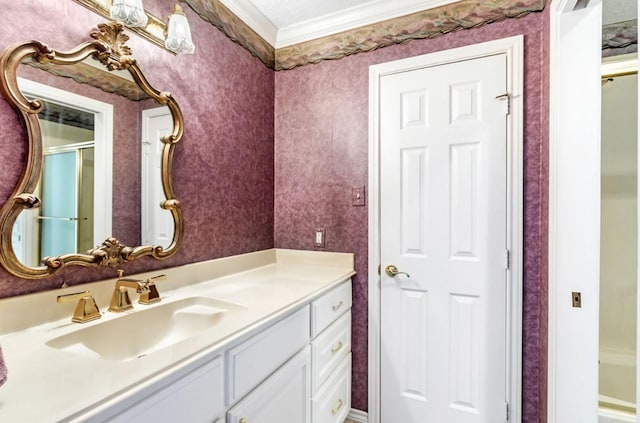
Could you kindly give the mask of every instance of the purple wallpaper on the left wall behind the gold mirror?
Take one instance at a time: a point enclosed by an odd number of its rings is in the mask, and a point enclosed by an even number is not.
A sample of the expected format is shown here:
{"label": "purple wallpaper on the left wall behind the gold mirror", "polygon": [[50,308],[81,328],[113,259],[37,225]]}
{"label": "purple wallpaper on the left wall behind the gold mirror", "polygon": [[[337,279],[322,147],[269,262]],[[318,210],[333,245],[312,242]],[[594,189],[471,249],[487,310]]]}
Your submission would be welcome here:
{"label": "purple wallpaper on the left wall behind the gold mirror", "polygon": [[[0,25],[0,49],[32,39],[58,50],[70,49],[89,41],[89,32],[102,22],[98,15],[72,1],[4,3],[7,24]],[[147,3],[156,16],[166,17],[175,1]],[[185,117],[185,133],[174,162],[174,186],[184,210],[185,237],[171,259],[129,263],[124,266],[126,273],[273,247],[273,71],[190,9],[185,12],[196,44],[194,55],[174,56],[129,34],[127,44],[149,82],[171,92]],[[125,115],[128,122],[124,126],[138,125],[137,114]],[[25,151],[16,141],[24,138],[22,124],[2,98],[0,119],[0,203],[4,203],[22,171]],[[128,147],[120,149],[130,163],[119,160],[114,165],[114,174],[119,175],[116,184],[125,188],[114,191],[118,219],[114,234],[126,240],[137,238],[132,234],[139,233],[138,217],[128,216],[126,208],[119,205],[127,202],[126,192],[139,190],[138,178],[130,176],[138,158]],[[51,279],[25,281],[0,269],[0,297],[115,275],[114,269],[75,267],[63,269]]]}

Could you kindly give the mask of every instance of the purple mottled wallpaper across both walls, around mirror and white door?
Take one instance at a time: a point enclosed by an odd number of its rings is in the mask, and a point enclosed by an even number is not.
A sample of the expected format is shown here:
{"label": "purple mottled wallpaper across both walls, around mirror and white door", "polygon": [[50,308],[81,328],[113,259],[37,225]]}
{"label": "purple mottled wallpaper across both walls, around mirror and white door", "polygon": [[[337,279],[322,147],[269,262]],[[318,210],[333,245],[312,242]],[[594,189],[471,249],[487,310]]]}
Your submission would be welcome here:
{"label": "purple mottled wallpaper across both walls, around mirror and white door", "polygon": [[[0,25],[2,49],[30,39],[68,49],[88,40],[88,32],[101,22],[70,1],[6,3],[5,22],[29,25]],[[154,14],[166,16],[175,1],[147,3]],[[277,72],[275,78],[273,71],[219,30],[190,9],[186,13],[195,55],[173,56],[135,34],[130,34],[128,43],[149,81],[170,91],[185,116],[174,169],[185,217],[184,243],[167,261],[143,259],[126,265],[125,271],[160,269],[274,244],[314,249],[313,230],[325,228],[327,251],[356,253],[353,406],[361,410],[367,409],[367,209],[351,206],[350,196],[352,186],[367,184],[368,66],[524,34],[523,421],[546,421],[548,12]],[[15,140],[24,133],[3,99],[0,119],[4,135],[0,202],[4,202],[22,170],[24,146]],[[135,120],[129,124],[137,125]],[[118,163],[115,172],[123,177],[131,173]],[[136,189],[131,178],[124,177],[122,183]],[[114,203],[121,201],[125,200],[114,195]],[[123,219],[123,238],[137,226],[133,219]],[[62,282],[114,276],[112,269],[76,267],[51,279],[24,281],[0,269],[0,298],[53,289]]]}

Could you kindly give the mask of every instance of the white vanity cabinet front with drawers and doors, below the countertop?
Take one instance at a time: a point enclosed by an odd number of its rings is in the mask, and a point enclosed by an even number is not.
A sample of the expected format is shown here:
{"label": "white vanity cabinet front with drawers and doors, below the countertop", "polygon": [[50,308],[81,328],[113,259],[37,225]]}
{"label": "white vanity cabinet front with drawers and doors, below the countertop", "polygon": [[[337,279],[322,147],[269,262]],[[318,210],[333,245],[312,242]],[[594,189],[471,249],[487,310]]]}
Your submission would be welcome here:
{"label": "white vanity cabinet front with drawers and doors, below the countertop", "polygon": [[223,348],[89,421],[343,423],[351,409],[351,281]]}

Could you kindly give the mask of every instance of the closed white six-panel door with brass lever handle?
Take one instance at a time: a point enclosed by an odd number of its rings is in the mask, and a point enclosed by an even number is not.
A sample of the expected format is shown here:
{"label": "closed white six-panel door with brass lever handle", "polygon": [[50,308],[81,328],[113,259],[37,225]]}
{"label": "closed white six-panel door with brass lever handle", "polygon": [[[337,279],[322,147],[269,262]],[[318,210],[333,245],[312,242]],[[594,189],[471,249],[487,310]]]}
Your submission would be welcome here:
{"label": "closed white six-panel door with brass lever handle", "polygon": [[506,94],[506,54],[381,78],[382,423],[507,419]]}

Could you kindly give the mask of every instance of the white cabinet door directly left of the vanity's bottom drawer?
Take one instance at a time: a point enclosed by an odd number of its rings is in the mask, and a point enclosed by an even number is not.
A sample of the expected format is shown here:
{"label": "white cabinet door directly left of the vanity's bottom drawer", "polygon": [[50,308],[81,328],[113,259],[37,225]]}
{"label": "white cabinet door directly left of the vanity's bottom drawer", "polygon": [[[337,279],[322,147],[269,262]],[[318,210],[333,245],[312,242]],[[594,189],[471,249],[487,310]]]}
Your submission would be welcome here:
{"label": "white cabinet door directly left of the vanity's bottom drawer", "polygon": [[227,423],[310,423],[309,347],[244,397],[227,413]]}

